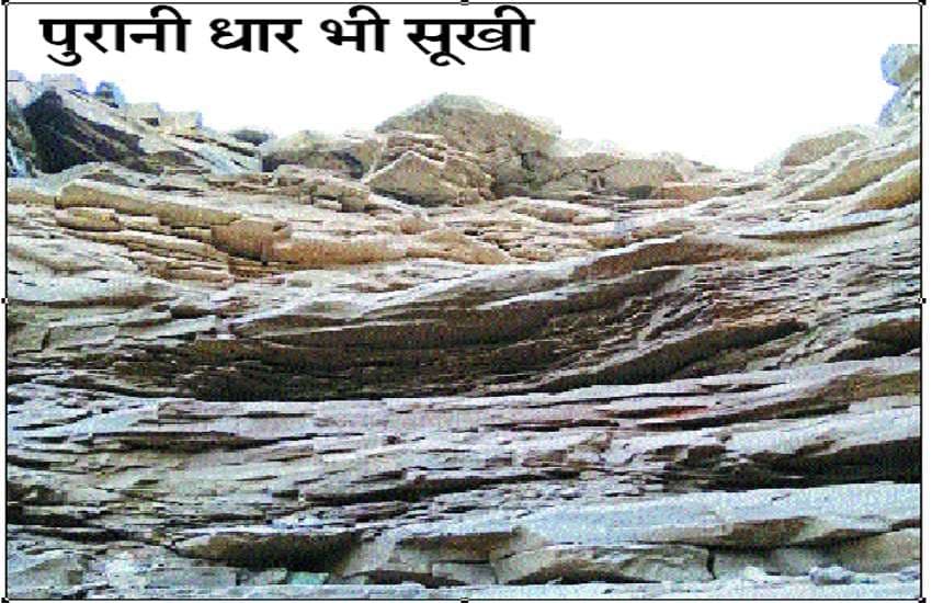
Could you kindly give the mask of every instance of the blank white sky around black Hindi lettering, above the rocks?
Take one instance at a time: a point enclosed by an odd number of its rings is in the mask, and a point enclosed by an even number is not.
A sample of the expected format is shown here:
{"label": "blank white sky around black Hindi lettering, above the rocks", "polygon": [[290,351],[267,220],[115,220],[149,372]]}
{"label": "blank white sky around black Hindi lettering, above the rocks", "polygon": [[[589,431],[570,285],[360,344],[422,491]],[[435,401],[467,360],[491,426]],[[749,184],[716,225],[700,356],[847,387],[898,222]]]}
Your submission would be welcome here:
{"label": "blank white sky around black Hindi lettering, above the rocks", "polygon": [[[462,48],[466,66],[435,67],[407,38],[405,19],[491,18],[493,7],[376,5],[390,19],[386,52],[326,41],[319,23],[346,5],[182,5],[187,52],[151,42],[106,55],[79,36],[80,65],[46,55],[38,19],[148,18],[149,5],[8,7],[9,66],[30,78],[73,72],[93,88],[120,84],[130,102],[198,110],[206,125],[371,129],[442,92],[475,94],[549,118],[568,138],[625,149],[670,150],[720,167],[751,168],[795,138],[872,124],[895,89],[880,77],[893,43],[919,43],[919,7],[899,5],[523,5],[537,21],[531,53]],[[221,50],[216,18],[303,19],[293,54]],[[109,38],[104,38],[104,44]],[[83,52],[82,52],[83,49]]]}

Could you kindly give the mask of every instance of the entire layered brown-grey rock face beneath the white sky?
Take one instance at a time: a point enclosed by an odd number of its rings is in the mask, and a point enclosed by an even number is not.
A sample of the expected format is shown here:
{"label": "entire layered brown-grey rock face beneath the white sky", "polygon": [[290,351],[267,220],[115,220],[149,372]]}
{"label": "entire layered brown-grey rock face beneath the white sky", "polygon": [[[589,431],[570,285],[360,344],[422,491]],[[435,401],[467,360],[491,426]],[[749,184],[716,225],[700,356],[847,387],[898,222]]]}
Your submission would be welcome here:
{"label": "entire layered brown-grey rock face beneath the white sky", "polygon": [[918,596],[918,50],[753,172],[8,75],[8,594]]}

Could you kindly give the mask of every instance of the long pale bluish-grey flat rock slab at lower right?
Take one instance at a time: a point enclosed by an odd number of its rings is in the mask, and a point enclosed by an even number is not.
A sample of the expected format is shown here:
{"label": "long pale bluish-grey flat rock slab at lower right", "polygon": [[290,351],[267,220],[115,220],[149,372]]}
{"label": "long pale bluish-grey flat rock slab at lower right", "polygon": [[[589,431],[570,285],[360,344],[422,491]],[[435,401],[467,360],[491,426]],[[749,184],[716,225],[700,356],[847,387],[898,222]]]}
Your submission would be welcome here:
{"label": "long pale bluish-grey flat rock slab at lower right", "polygon": [[700,492],[614,505],[566,508],[524,517],[532,543],[611,546],[624,542],[775,548],[880,534],[919,522],[919,485],[852,483],[803,490]]}

